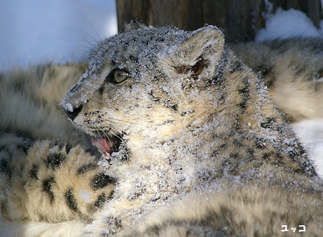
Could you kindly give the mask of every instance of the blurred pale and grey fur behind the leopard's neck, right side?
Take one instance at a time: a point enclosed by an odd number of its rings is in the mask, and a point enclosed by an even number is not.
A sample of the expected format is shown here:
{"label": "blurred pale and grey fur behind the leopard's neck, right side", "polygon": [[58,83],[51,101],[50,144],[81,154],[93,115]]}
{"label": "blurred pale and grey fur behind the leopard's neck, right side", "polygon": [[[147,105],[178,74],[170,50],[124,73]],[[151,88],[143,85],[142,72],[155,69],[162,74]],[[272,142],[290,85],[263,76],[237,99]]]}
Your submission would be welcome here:
{"label": "blurred pale and grey fur behind the leopard's neck, right side", "polygon": [[323,117],[322,39],[239,43],[231,48],[263,77],[290,121]]}

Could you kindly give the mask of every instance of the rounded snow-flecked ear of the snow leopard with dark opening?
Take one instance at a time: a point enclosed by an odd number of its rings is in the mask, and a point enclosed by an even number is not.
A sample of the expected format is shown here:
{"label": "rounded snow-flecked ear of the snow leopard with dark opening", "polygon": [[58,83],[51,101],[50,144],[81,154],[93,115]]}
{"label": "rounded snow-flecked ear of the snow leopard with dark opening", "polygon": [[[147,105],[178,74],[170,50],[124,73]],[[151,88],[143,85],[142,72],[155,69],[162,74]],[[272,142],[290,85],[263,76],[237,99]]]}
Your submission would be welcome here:
{"label": "rounded snow-flecked ear of the snow leopard with dark opening", "polygon": [[217,27],[202,27],[180,44],[172,61],[178,68],[192,70],[196,77],[210,79],[218,72],[223,47],[224,37]]}

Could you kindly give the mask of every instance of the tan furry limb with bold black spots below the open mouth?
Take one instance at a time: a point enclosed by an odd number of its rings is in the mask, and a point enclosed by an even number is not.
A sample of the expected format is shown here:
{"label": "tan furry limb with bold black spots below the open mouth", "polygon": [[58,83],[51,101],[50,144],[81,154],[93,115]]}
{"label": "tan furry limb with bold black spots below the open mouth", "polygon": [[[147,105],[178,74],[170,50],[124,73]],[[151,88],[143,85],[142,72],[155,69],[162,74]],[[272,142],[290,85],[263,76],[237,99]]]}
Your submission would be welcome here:
{"label": "tan furry limb with bold black spots below the open mouth", "polygon": [[[81,217],[86,223],[98,203],[113,195],[117,180],[104,175],[95,156],[79,146],[9,134],[0,141],[1,217],[6,221],[55,223]],[[19,149],[22,144],[27,155]]]}

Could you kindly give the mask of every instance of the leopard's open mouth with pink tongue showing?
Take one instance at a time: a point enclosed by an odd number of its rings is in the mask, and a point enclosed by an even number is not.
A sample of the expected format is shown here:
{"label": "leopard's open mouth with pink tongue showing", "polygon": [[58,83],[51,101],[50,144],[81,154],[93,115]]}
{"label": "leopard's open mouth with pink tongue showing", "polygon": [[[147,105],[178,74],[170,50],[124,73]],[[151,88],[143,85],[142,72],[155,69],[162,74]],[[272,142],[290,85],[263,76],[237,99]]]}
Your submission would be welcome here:
{"label": "leopard's open mouth with pink tongue showing", "polygon": [[120,136],[92,137],[92,144],[98,148],[101,154],[108,160],[112,153],[118,152],[122,140]]}

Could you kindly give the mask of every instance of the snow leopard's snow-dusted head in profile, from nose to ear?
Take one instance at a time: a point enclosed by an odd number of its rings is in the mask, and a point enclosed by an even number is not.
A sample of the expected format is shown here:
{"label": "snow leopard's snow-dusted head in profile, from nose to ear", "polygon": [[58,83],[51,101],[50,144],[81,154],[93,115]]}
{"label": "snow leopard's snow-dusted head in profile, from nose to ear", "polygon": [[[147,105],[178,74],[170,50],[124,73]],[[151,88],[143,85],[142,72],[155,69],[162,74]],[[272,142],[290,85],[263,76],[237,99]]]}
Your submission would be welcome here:
{"label": "snow leopard's snow-dusted head in profile, from nose to ear", "polygon": [[176,139],[214,111],[211,90],[222,54],[216,27],[130,30],[92,50],[89,71],[61,105],[103,156],[128,158],[150,144]]}

